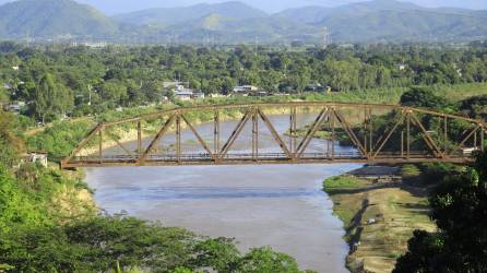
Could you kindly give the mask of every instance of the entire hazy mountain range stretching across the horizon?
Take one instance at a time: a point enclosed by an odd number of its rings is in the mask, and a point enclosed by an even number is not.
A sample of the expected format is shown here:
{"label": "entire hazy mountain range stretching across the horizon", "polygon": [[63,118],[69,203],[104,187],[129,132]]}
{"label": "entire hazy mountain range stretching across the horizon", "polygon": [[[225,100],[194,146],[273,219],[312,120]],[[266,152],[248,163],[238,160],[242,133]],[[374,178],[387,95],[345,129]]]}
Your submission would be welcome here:
{"label": "entire hazy mountain range stretching across the horizon", "polygon": [[159,8],[106,16],[73,0],[0,5],[0,39],[26,36],[112,43],[468,41],[487,38],[487,11],[394,0],[305,7],[268,14],[241,2]]}

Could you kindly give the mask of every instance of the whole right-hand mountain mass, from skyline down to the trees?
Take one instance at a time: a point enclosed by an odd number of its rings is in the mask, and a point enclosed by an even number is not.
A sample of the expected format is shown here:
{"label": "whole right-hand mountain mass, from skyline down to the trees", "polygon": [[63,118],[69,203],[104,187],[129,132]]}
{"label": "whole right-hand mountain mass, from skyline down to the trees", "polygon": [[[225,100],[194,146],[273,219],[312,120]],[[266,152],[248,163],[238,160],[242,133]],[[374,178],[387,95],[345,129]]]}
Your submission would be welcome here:
{"label": "whole right-hand mountain mass, from skyline down to the trees", "polygon": [[274,16],[329,27],[334,41],[448,41],[487,37],[485,11],[430,9],[394,0],[290,9]]}

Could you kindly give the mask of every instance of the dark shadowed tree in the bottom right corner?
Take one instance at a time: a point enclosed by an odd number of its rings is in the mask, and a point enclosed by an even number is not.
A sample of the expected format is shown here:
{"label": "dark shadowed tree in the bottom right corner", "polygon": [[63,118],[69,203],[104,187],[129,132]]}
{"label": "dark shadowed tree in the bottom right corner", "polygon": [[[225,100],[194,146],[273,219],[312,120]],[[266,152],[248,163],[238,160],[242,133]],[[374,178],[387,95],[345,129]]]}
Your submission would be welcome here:
{"label": "dark shadowed tree in the bottom right corner", "polygon": [[487,155],[473,168],[446,173],[431,192],[430,217],[438,232],[416,230],[394,272],[487,271]]}

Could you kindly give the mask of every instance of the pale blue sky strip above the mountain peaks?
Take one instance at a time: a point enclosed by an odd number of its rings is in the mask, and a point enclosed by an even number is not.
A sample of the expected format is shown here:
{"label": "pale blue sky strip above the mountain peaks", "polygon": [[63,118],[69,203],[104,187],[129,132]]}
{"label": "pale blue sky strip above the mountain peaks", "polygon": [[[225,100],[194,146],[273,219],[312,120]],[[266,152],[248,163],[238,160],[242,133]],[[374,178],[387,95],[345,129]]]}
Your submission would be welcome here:
{"label": "pale blue sky strip above the mountain peaks", "polygon": [[[0,0],[0,4],[13,0]],[[215,3],[226,0],[75,0],[95,7],[107,15],[131,12],[147,8],[183,7],[195,3]],[[278,12],[288,8],[305,5],[335,7],[349,2],[361,2],[364,0],[240,0],[254,8],[269,13]],[[406,0],[404,0],[406,1]],[[487,10],[487,0],[408,0],[424,7],[455,7],[465,9]]]}

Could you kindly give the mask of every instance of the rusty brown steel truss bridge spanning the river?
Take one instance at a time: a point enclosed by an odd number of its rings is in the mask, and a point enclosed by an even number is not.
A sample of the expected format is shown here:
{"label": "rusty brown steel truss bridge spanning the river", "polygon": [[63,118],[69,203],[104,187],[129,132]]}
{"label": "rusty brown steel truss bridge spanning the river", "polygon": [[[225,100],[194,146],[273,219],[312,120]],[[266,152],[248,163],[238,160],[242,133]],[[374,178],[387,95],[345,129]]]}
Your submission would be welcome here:
{"label": "rusty brown steel truss bridge spanning the river", "polygon": [[[286,132],[273,123],[276,109],[289,117]],[[222,135],[223,114],[239,112],[238,122],[228,138]],[[316,112],[316,119],[304,128],[297,127],[298,116]],[[205,126],[211,136],[200,134],[191,120],[206,115]],[[209,118],[210,117],[210,118]],[[228,115],[226,116],[228,117]],[[387,122],[377,120],[387,118]],[[200,118],[201,120],[201,118]],[[456,126],[455,126],[456,124]],[[462,129],[459,130],[459,126]],[[151,126],[151,130],[149,130]],[[120,129],[124,128],[124,129]],[[155,128],[155,129],[154,129]],[[248,136],[247,152],[235,153],[233,146],[243,130]],[[452,129],[450,129],[452,128]],[[259,146],[261,132],[272,135],[277,152],[264,152]],[[131,142],[121,141],[120,132],[132,132]],[[308,151],[319,131],[329,141],[323,150]],[[185,152],[181,134],[191,133],[193,145],[202,152]],[[207,133],[206,133],[207,134]],[[308,163],[468,163],[475,151],[483,150],[486,123],[462,116],[394,105],[340,103],[275,103],[219,106],[194,106],[164,110],[136,118],[97,124],[74,151],[61,162],[62,168],[110,166],[174,165],[240,165],[240,164],[308,164]],[[161,140],[170,138],[170,149],[161,149]],[[346,141],[353,152],[338,152],[335,143]],[[324,143],[324,142],[323,142]],[[108,153],[107,146],[117,146]]]}

